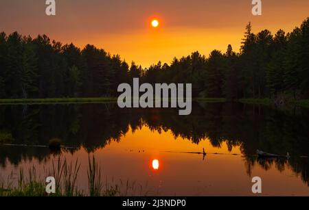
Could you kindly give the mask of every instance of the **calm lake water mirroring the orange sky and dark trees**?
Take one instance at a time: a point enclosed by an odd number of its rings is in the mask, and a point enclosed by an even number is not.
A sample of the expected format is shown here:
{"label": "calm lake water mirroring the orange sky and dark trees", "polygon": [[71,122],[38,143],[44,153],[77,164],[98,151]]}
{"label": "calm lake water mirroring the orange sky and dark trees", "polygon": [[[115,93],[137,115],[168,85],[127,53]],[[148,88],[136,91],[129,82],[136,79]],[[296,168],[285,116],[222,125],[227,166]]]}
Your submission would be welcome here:
{"label": "calm lake water mirroring the orange sky and dark trees", "polygon": [[[90,153],[104,184],[128,196],[253,195],[253,176],[262,178],[263,195],[309,196],[308,124],[308,109],[236,103],[196,103],[191,116],[114,104],[1,106],[0,137],[27,145],[57,137],[72,148],[54,155],[43,147],[0,146],[0,176],[16,183],[19,168],[35,166],[44,178],[59,157],[78,159],[78,187],[86,190]],[[291,158],[258,159],[257,149]]]}

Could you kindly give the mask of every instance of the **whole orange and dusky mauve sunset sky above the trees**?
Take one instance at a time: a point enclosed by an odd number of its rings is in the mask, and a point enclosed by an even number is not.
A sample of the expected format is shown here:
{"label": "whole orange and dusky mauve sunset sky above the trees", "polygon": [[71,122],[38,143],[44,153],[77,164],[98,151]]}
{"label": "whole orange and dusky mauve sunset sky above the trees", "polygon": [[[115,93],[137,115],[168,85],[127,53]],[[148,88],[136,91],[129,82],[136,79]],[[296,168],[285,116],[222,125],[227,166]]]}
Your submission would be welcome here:
{"label": "whole orange and dusky mauve sunset sky above the trees", "polygon": [[47,16],[45,0],[1,0],[0,31],[94,44],[147,67],[193,51],[225,51],[228,44],[238,51],[249,21],[253,32],[275,34],[309,16],[308,0],[262,0],[262,16],[253,16],[252,7],[251,0],[56,0],[56,16]]}

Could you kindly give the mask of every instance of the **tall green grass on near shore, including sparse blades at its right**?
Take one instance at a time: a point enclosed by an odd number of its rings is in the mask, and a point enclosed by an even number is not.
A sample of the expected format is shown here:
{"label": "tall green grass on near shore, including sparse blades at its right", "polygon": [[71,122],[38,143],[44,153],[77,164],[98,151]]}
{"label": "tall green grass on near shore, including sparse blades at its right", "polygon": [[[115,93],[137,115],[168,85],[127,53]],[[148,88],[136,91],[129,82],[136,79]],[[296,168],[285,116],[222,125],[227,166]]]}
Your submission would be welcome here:
{"label": "tall green grass on near shore, including sparse blades at its right", "polygon": [[[102,170],[94,156],[88,157],[87,178],[88,191],[84,192],[78,188],[78,174],[80,172],[78,159],[68,163],[58,158],[52,162],[52,168],[45,169],[45,176],[37,176],[36,168],[32,166],[27,172],[23,168],[19,169],[17,183],[14,187],[8,177],[5,181],[0,176],[0,196],[147,196],[150,191],[145,192],[142,185],[135,181],[112,180],[108,184],[103,182]],[[45,192],[45,178],[53,176],[56,179],[56,193],[47,194]],[[146,183],[146,189],[148,183]],[[158,192],[159,194],[159,192]]]}

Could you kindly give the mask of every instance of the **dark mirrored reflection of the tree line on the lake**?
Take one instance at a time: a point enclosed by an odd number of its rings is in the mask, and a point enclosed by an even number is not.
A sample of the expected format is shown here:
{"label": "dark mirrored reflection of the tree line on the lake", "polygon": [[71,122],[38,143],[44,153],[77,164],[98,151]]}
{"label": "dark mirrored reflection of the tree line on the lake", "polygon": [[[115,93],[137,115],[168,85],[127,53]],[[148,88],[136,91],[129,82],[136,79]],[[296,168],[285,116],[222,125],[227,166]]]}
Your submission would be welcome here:
{"label": "dark mirrored reflection of the tree line on the lake", "polygon": [[[206,137],[220,147],[227,143],[229,150],[240,146],[248,174],[259,164],[265,170],[272,165],[279,171],[292,166],[309,182],[308,109],[283,113],[273,109],[236,103],[202,103],[194,105],[190,116],[179,116],[173,109],[118,109],[113,104],[43,105],[0,107],[0,132],[11,133],[14,144],[47,145],[58,137],[66,146],[84,146],[89,151],[101,148],[127,133],[148,126],[154,131],[172,131],[174,137],[183,137],[198,144]],[[1,135],[0,135],[1,136]],[[292,158],[284,160],[256,159],[256,149],[275,154],[289,152]],[[75,150],[70,150],[73,153]],[[49,157],[42,148],[10,148],[0,146],[0,163],[5,159],[18,164],[22,159]]]}

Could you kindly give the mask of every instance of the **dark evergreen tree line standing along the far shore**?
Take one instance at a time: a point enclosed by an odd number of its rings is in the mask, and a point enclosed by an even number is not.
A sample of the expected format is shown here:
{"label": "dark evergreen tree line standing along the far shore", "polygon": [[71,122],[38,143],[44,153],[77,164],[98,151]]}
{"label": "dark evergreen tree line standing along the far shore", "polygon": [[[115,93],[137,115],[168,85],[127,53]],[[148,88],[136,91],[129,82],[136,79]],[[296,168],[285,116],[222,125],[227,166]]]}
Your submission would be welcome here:
{"label": "dark evergreen tree line standing along the far shore", "polygon": [[130,65],[88,44],[79,49],[47,36],[0,34],[0,98],[117,96],[120,83],[192,83],[193,96],[226,99],[309,97],[309,18],[286,34],[246,27],[240,52],[197,51],[171,64]]}

